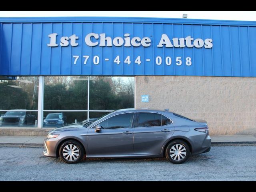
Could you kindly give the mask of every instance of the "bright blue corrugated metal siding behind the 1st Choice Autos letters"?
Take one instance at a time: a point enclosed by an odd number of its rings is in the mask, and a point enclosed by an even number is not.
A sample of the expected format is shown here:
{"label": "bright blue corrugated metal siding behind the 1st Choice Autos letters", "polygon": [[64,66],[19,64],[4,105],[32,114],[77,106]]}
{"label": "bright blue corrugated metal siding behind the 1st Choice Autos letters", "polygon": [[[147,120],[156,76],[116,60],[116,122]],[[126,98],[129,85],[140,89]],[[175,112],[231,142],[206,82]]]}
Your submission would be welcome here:
{"label": "bright blue corrugated metal siding behind the 1st Choice Autos letters", "polygon": [[[27,20],[27,21],[26,21]],[[211,20],[171,20],[158,19],[157,22],[145,18],[52,18],[42,21],[35,18],[0,18],[0,75],[180,75],[180,76],[256,76],[256,22],[222,22]],[[44,18],[46,20],[46,18]],[[30,21],[30,22],[29,22]],[[132,22],[134,21],[134,22]],[[201,21],[201,24],[200,24]],[[190,22],[190,23],[189,23]],[[228,23],[230,23],[228,25]],[[246,24],[248,24],[246,26]],[[150,47],[100,47],[87,46],[84,38],[88,33],[106,33],[106,36],[150,37]],[[57,33],[57,43],[62,36],[76,34],[76,47],[49,47],[48,37]],[[161,35],[172,38],[212,38],[212,48],[158,48]],[[84,55],[90,56],[84,64]],[[76,64],[73,56],[80,56]],[[94,56],[99,63],[93,64]],[[119,56],[120,64],[114,62]],[[130,64],[124,60],[130,56]],[[140,56],[141,64],[135,63]],[[162,64],[156,64],[156,57]],[[166,64],[166,57],[172,64]],[[176,65],[176,57],[181,57],[182,65]],[[192,65],[187,66],[186,57]],[[105,58],[109,60],[106,61]],[[150,59],[150,61],[146,61]]]}

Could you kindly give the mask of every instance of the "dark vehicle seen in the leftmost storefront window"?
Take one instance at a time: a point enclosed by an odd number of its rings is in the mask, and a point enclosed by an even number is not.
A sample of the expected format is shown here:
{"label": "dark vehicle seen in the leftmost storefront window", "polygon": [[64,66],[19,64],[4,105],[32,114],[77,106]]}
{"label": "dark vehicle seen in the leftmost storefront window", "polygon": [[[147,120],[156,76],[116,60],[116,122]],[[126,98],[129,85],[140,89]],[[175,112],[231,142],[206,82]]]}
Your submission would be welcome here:
{"label": "dark vehicle seen in the leftmost storefront window", "polygon": [[1,126],[34,125],[36,116],[25,110],[10,110],[0,117]]}

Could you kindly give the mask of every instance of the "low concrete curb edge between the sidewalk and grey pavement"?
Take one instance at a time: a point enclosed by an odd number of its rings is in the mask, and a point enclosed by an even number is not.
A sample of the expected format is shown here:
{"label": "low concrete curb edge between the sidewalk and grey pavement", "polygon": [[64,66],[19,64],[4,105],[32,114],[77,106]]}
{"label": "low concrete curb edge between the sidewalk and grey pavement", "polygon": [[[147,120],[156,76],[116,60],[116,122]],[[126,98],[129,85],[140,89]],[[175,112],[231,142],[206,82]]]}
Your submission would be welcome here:
{"label": "low concrete curb edge between the sidewalk and grey pavement", "polygon": [[[43,147],[42,143],[0,143],[0,147]],[[256,141],[212,142],[212,146],[256,146]]]}

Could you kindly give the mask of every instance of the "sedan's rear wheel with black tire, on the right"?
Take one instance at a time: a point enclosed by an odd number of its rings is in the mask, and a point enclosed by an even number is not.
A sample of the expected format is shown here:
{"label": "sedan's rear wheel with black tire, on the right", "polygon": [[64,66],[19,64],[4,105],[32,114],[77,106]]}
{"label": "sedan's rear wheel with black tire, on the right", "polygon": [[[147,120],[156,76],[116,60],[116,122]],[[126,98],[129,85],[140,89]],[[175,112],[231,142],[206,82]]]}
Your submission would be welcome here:
{"label": "sedan's rear wheel with black tire, on the right", "polygon": [[[178,151],[180,151],[182,154],[181,153],[176,154],[175,150],[174,150],[176,148],[180,148],[180,150],[178,150]],[[186,154],[184,154],[184,152],[186,152]],[[178,139],[174,140],[174,141],[170,142],[168,144],[168,146],[166,147],[165,156],[173,164],[184,163],[186,160],[188,160],[188,157],[190,156],[189,146],[183,140],[178,140]]]}

